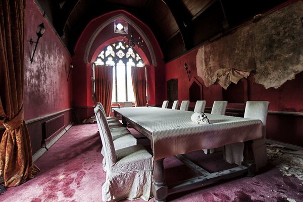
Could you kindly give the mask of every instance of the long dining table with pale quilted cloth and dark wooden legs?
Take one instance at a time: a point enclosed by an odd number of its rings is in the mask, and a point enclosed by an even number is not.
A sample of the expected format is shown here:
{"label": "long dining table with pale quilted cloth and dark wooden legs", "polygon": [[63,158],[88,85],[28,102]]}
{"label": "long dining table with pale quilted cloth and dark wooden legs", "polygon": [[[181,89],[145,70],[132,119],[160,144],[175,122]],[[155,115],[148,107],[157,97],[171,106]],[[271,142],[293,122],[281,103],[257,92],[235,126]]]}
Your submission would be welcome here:
{"label": "long dining table with pale quilted cloth and dark wooden legs", "polygon": [[[210,124],[196,124],[191,121],[194,112],[163,109],[157,107],[114,108],[115,116],[122,117],[124,126],[130,124],[151,143],[154,153],[154,201],[166,201],[168,194],[185,191],[222,179],[229,179],[247,173],[254,176],[256,165],[251,148],[252,140],[262,137],[262,121],[241,117],[207,114]],[[196,165],[199,177],[182,181],[172,186],[165,181],[164,159],[175,156],[186,162],[182,154],[199,149],[217,148],[234,142],[244,142],[241,166],[209,173]]]}

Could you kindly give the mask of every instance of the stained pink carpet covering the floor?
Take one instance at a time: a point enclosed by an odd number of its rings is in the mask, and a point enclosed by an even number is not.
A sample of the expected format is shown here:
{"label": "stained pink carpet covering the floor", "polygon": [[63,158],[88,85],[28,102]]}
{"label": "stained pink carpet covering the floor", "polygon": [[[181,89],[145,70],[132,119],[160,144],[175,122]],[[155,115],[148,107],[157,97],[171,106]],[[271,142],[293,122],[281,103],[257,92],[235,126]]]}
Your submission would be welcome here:
{"label": "stained pink carpet covering the floor", "polygon": [[[1,202],[94,202],[102,201],[102,147],[96,124],[74,125],[35,163],[40,173],[0,195]],[[130,129],[136,136],[141,135]],[[138,143],[149,148],[148,139]],[[204,155],[201,151],[186,155],[209,171],[230,167],[221,161],[222,153]],[[208,164],[204,162],[208,162]],[[167,182],[195,176],[175,158],[165,160]],[[128,200],[121,200],[128,201]],[[144,200],[137,200],[142,202]],[[150,199],[149,201],[153,201]],[[167,201],[303,201],[303,181],[283,176],[269,165],[253,178],[238,177],[218,184],[169,195]]]}

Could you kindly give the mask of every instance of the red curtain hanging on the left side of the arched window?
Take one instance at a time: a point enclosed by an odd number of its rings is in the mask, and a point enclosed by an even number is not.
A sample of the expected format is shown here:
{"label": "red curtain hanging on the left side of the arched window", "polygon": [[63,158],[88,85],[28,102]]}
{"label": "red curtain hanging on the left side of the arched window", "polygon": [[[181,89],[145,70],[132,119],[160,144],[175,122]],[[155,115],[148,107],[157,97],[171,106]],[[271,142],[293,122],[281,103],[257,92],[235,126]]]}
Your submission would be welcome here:
{"label": "red curtain hanging on the left side of the arched window", "polygon": [[113,66],[95,66],[95,87],[95,102],[101,103],[106,115],[110,116],[113,94]]}

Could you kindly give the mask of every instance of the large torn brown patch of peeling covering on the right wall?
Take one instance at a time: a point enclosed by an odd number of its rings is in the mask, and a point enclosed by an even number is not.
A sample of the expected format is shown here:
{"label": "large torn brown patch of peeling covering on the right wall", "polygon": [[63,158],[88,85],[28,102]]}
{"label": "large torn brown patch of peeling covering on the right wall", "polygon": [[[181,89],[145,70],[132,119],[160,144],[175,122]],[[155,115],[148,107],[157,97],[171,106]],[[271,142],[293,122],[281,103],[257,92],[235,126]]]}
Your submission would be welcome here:
{"label": "large torn brown patch of peeling covering on the right wall", "polygon": [[199,48],[197,74],[206,86],[227,88],[255,70],[255,82],[278,88],[303,71],[303,2],[264,16]]}

